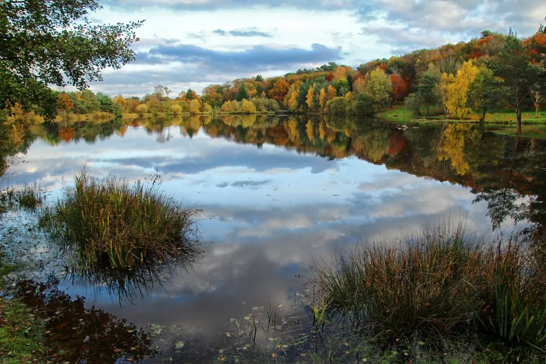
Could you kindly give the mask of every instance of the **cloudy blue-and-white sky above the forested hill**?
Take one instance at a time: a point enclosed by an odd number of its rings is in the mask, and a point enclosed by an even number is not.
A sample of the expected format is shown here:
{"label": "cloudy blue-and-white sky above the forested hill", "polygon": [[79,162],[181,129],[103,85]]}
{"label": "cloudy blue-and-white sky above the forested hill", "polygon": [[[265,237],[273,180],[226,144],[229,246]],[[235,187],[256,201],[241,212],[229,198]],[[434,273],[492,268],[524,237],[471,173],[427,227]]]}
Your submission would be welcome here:
{"label": "cloudy blue-and-white sky above the forested hill", "polygon": [[544,22],[544,0],[103,0],[94,23],[145,20],[136,61],[104,71],[93,91],[144,96],[162,84],[201,92],[261,74],[283,75],[468,41],[484,29],[520,36]]}

